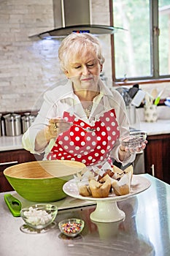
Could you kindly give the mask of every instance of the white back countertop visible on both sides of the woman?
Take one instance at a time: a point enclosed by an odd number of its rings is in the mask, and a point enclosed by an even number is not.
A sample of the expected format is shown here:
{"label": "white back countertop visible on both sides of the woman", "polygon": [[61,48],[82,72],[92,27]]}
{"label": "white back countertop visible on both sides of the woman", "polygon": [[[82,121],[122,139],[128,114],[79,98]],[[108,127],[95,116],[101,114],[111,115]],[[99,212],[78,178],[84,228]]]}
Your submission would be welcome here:
{"label": "white back countertop visible on both sides of the woman", "polygon": [[[136,124],[132,124],[132,127],[147,132],[147,135],[170,134],[170,119],[158,119],[158,121],[152,123],[139,121]],[[1,136],[0,151],[22,149],[22,136],[23,135],[15,137]]]}

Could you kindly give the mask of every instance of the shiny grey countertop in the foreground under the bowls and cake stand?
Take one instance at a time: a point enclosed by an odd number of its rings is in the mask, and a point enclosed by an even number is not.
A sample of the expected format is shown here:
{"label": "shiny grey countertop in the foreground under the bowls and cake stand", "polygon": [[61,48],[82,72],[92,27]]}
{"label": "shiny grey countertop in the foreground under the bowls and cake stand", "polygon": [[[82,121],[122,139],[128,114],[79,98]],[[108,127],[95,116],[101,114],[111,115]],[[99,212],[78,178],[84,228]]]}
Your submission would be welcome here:
{"label": "shiny grey countertop in the foreground under the bowls and cake stand", "polygon": [[[100,223],[90,220],[96,206],[62,208],[55,222],[69,217],[85,220],[85,228],[77,238],[61,236],[58,226],[46,233],[23,233],[21,217],[13,217],[0,194],[0,255],[1,256],[67,256],[67,255],[119,255],[119,256],[169,256],[170,252],[170,186],[148,174],[149,189],[134,197],[118,202],[125,212],[125,220]],[[14,192],[16,193],[16,192]],[[70,197],[69,202],[75,199]],[[78,200],[80,201],[80,200]],[[25,202],[26,203],[26,202]],[[68,205],[69,207],[70,205]]]}

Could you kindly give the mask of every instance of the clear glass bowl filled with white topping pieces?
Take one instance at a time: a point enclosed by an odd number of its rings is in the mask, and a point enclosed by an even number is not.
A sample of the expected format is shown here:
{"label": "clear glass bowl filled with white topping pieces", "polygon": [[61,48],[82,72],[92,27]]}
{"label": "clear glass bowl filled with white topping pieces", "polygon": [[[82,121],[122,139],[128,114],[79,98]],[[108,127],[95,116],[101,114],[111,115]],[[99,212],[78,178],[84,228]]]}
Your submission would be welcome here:
{"label": "clear glass bowl filled with white topping pieces", "polygon": [[26,225],[41,230],[50,225],[57,216],[58,208],[52,204],[36,204],[20,211]]}

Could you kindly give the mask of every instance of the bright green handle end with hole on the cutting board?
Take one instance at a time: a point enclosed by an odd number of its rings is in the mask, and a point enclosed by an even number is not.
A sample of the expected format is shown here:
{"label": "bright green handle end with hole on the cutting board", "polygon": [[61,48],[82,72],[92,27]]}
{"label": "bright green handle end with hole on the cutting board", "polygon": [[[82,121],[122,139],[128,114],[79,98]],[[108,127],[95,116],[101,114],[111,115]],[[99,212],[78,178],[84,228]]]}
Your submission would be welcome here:
{"label": "bright green handle end with hole on the cutting board", "polygon": [[5,203],[7,203],[7,206],[11,211],[12,215],[14,217],[20,217],[20,210],[22,208],[20,200],[13,197],[11,194],[5,194],[4,200],[5,200]]}

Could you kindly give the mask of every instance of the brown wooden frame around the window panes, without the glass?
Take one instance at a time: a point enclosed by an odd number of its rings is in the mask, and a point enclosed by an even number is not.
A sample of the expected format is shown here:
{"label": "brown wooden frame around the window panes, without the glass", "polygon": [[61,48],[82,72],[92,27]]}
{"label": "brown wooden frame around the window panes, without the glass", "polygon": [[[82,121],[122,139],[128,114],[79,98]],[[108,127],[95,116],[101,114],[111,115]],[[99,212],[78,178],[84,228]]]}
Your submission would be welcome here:
{"label": "brown wooden frame around the window panes, without the glass", "polygon": [[[113,14],[113,1],[109,0],[109,11],[110,11],[110,25],[114,26],[114,14]],[[133,81],[139,83],[152,83],[158,82],[163,83],[170,81],[170,75],[159,75],[159,52],[158,52],[158,0],[150,0],[150,65],[151,75],[145,77],[134,77],[134,78],[116,78],[115,74],[115,42],[114,34],[111,35],[111,54],[112,54],[112,80],[119,84],[133,84]]]}

